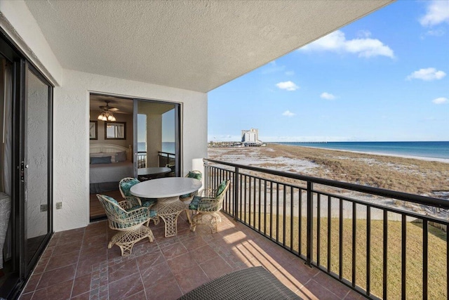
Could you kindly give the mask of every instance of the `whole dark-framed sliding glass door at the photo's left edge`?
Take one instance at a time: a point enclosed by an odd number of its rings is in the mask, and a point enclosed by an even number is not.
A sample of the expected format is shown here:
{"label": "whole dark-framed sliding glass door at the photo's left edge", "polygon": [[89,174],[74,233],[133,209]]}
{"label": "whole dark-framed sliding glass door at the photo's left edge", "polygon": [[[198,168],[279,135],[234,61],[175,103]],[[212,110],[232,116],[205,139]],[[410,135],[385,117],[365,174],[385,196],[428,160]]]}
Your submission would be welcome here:
{"label": "whole dark-framed sliding glass door at the photo's left edge", "polygon": [[14,299],[53,232],[53,87],[1,32],[0,58],[0,298]]}

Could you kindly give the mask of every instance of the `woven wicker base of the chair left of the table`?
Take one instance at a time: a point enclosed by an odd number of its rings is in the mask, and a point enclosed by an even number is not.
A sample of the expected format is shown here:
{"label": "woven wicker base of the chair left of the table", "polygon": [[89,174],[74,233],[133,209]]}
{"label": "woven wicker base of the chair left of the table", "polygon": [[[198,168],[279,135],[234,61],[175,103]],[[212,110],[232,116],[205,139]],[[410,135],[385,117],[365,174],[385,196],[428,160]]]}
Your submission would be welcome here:
{"label": "woven wicker base of the chair left of the table", "polygon": [[143,225],[133,230],[120,231],[112,237],[111,242],[107,245],[107,248],[111,249],[112,246],[116,244],[120,247],[121,256],[127,256],[133,252],[134,244],[142,239],[145,239],[145,237],[148,237],[149,242],[153,242],[154,240],[152,230]]}

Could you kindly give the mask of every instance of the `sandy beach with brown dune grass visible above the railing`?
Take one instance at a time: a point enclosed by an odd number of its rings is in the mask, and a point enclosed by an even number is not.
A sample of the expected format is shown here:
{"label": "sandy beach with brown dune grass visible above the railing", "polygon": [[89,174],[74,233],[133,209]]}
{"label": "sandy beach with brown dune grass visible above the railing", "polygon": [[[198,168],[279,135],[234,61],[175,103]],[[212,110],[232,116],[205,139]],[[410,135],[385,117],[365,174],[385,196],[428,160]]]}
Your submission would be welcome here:
{"label": "sandy beach with brown dune grass visible above the railing", "polygon": [[379,155],[290,145],[209,148],[208,157],[405,193],[449,198],[449,159]]}

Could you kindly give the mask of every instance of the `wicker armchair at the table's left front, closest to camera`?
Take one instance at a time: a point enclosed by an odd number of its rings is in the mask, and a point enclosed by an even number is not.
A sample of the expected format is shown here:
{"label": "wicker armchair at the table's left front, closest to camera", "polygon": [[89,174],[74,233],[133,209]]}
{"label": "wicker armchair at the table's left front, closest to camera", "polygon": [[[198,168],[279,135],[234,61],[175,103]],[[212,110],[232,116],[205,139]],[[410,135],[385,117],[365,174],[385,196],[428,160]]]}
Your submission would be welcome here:
{"label": "wicker armchair at the table's left front, closest to camera", "polygon": [[105,208],[109,228],[119,230],[107,244],[108,249],[116,244],[121,249],[121,255],[126,256],[131,254],[134,244],[145,237],[148,237],[149,242],[153,242],[152,230],[143,224],[154,219],[156,211],[141,207],[136,197],[126,197],[126,200],[121,202],[116,202],[114,198],[106,195],[97,194],[97,197]]}

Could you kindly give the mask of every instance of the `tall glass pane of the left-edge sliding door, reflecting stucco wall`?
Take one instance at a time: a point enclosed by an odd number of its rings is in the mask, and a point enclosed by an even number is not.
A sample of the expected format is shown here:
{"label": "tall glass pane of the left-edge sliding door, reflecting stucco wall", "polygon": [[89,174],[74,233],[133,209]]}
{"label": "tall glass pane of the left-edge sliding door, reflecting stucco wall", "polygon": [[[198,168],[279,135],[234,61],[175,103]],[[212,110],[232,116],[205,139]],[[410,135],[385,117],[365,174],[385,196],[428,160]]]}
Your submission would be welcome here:
{"label": "tall glass pane of the left-edge sliding door, reflecting stucco wall", "polygon": [[[51,86],[30,66],[26,74],[24,188],[27,270],[51,233]],[[21,162],[22,164],[22,162]]]}

